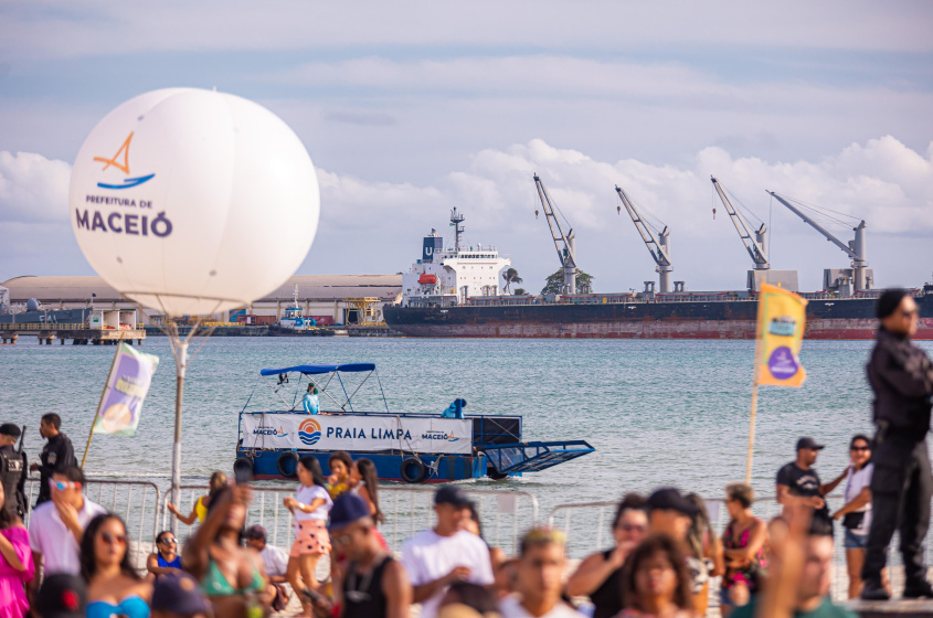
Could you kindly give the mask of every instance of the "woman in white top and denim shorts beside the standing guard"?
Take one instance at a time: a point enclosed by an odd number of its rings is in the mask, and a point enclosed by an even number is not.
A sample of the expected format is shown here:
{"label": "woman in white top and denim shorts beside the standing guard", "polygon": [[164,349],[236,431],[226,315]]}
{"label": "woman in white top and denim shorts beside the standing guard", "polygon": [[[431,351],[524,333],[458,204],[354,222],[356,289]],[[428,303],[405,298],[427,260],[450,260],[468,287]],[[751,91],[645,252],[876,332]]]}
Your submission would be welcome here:
{"label": "woman in white top and denim shorts beside the standing guard", "polygon": [[[849,598],[861,594],[861,567],[865,564],[865,547],[868,544],[868,531],[871,528],[871,441],[868,436],[858,434],[849,443],[852,465],[846,478],[846,503],[833,513],[834,520],[842,520],[846,547],[846,566],[849,572]],[[881,571],[881,584],[890,594],[888,569]]]}

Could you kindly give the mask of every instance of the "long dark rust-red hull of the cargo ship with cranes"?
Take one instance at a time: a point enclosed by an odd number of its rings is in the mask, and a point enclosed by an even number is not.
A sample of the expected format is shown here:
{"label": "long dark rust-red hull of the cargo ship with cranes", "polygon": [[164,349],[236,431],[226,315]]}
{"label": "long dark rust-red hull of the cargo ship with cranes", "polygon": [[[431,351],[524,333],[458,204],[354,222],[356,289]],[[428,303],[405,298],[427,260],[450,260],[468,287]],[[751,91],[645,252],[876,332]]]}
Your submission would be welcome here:
{"label": "long dark rust-red hull of the cargo ship with cranes", "polygon": [[[920,329],[933,339],[933,295],[918,297]],[[873,298],[810,300],[806,339],[874,339]],[[757,302],[385,306],[385,322],[407,337],[503,339],[754,339]]]}

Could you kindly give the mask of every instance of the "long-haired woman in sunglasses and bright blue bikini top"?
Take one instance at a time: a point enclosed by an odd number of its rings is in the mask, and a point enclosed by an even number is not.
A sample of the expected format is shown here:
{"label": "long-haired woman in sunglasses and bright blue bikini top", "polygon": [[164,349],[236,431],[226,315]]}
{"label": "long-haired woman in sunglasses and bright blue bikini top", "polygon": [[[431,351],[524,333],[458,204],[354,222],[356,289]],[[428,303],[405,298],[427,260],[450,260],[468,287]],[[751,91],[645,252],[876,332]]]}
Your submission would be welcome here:
{"label": "long-haired woman in sunglasses and bright blue bikini top", "polygon": [[88,618],[149,618],[152,584],[132,567],[128,546],[119,515],[104,513],[87,524],[81,541],[81,575],[87,582]]}

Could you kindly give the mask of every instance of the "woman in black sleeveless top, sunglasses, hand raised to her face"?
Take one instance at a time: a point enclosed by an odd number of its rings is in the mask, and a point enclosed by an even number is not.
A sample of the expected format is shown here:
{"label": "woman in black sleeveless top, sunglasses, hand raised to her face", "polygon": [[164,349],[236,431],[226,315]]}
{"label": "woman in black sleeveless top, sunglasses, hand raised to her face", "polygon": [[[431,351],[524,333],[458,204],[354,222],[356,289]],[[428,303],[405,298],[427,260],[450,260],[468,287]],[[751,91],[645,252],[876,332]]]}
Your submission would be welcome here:
{"label": "woman in black sleeveless top, sunglasses, hand raised to her face", "polygon": [[618,583],[625,558],[648,531],[647,501],[638,493],[628,493],[618,503],[612,523],[615,547],[592,554],[580,563],[566,582],[566,594],[589,596],[593,618],[611,618],[622,610]]}

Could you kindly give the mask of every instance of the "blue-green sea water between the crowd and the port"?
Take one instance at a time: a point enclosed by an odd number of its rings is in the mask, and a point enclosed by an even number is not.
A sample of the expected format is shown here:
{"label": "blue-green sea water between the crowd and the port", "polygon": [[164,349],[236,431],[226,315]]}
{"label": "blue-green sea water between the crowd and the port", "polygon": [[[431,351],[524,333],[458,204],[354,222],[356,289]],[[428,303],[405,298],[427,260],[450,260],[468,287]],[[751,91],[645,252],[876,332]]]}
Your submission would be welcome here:
{"label": "blue-green sea water between the crowd and the port", "polygon": [[[39,419],[55,412],[81,460],[115,349],[23,339],[0,348],[0,423],[29,426],[25,445],[35,461],[43,441]],[[824,481],[842,472],[850,437],[872,430],[865,372],[871,347],[806,341],[804,386],[760,390],[752,481],[760,494],[773,496],[775,473],[794,458],[799,436],[826,445],[816,465]],[[523,416],[526,440],[593,445],[592,455],[521,479],[475,483],[531,491],[542,514],[559,503],[614,500],[659,486],[721,498],[725,483],[744,477],[753,348],[751,341],[212,338],[191,348],[183,476],[203,480],[213,470],[231,470],[237,415],[254,388],[251,407],[282,409],[279,396],[295,401],[296,384],[274,393],[277,380],[261,381],[259,369],[373,362],[380,381],[362,385],[357,409],[384,409],[381,384],[392,412],[439,415],[463,397],[467,414]],[[88,476],[170,473],[174,360],[163,337],[147,339],[141,350],[161,362],[138,431],[95,436]],[[348,392],[361,377],[347,376]],[[341,390],[336,381],[331,387]],[[324,409],[330,404],[321,398]]]}

